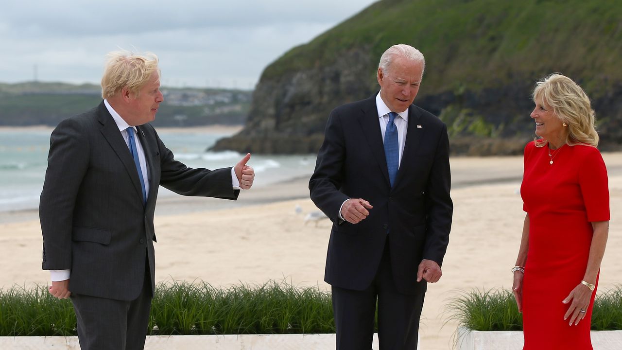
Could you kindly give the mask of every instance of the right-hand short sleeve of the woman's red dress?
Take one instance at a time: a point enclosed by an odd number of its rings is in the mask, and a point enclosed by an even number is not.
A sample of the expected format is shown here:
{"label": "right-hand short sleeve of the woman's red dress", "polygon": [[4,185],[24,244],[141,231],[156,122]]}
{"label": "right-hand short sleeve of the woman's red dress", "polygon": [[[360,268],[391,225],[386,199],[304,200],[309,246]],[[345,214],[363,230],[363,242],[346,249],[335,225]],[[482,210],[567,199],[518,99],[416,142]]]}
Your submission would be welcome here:
{"label": "right-hand short sleeve of the woman's red dress", "polygon": [[603,156],[596,148],[589,148],[579,168],[579,186],[587,220],[589,222],[608,221],[609,181]]}

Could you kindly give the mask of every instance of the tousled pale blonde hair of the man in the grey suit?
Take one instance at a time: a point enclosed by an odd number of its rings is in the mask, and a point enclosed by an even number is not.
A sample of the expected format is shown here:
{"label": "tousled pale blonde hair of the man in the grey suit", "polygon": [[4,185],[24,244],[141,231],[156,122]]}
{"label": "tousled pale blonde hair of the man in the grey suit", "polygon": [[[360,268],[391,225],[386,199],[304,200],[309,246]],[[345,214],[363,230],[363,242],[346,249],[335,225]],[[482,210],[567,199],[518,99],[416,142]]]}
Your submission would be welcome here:
{"label": "tousled pale blonde hair of the man in the grey suit", "polygon": [[113,51],[107,57],[104,75],[101,77],[103,98],[113,97],[123,87],[128,87],[129,92],[137,96],[153,73],[160,75],[157,56],[151,52],[137,55],[128,51]]}

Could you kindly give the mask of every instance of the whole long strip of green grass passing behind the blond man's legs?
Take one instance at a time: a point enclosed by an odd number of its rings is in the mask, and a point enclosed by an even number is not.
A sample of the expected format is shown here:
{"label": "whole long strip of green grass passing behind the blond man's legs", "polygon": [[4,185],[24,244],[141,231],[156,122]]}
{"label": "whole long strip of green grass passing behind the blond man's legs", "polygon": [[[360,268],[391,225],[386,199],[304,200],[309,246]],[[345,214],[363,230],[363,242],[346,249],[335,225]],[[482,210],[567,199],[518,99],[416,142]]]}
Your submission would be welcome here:
{"label": "whole long strip of green grass passing behind the blond man's legs", "polygon": [[[335,333],[330,293],[286,282],[216,288],[208,283],[159,283],[149,334]],[[75,336],[69,300],[47,286],[0,290],[0,336]]]}

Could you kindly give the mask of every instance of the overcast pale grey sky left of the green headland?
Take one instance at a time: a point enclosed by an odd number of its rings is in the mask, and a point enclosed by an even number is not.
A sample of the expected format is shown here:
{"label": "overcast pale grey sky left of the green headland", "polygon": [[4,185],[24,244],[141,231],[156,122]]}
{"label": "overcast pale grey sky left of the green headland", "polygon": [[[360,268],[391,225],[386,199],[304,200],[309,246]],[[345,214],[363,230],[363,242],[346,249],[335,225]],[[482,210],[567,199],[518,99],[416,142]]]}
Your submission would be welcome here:
{"label": "overcast pale grey sky left of the green headland", "polygon": [[0,82],[99,83],[107,52],[154,52],[162,85],[254,88],[266,65],[374,0],[4,0]]}

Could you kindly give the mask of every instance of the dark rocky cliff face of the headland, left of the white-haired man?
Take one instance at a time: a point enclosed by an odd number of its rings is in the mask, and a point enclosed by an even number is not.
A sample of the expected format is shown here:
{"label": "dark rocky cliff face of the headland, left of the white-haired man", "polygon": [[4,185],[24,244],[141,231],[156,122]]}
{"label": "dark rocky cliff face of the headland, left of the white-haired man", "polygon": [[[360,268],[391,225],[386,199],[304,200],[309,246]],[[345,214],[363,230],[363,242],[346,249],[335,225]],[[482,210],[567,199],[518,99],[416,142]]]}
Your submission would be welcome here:
{"label": "dark rocky cliff face of the headland, left of the white-haired man", "polygon": [[[255,153],[315,153],[330,110],[372,93],[369,50],[343,52],[332,65],[262,79],[253,93],[244,129],[215,149]],[[361,73],[366,72],[367,73]]]}

